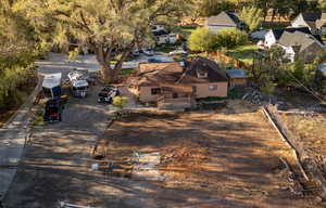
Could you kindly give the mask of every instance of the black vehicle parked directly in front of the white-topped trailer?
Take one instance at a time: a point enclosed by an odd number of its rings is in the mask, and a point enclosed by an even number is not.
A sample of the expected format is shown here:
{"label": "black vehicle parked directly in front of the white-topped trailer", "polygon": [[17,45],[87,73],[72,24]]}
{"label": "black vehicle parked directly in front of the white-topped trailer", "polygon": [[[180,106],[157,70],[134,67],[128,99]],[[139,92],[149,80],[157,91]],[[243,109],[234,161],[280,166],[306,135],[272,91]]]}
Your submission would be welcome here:
{"label": "black vehicle parked directly in front of the white-topped trailer", "polygon": [[61,99],[51,99],[47,101],[43,120],[46,122],[61,121],[63,108],[64,104]]}

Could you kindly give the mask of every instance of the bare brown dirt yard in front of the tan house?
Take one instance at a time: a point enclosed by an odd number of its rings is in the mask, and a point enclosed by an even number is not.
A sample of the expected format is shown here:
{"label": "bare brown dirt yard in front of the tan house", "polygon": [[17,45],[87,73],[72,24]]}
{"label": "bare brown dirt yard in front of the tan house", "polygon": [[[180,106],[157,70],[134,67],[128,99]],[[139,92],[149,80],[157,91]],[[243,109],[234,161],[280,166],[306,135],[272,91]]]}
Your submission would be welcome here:
{"label": "bare brown dirt yard in front of the tan house", "polygon": [[[292,152],[261,109],[241,101],[227,106],[206,113],[133,112],[113,122],[98,154],[102,162],[125,169],[118,176],[130,183],[139,180],[133,173],[139,170],[135,155],[142,160],[159,155],[155,170],[151,166],[140,181],[160,187],[151,193],[163,207],[322,207],[289,191],[279,157],[291,162]],[[191,194],[180,195],[185,191]],[[177,202],[171,200],[175,196]]]}

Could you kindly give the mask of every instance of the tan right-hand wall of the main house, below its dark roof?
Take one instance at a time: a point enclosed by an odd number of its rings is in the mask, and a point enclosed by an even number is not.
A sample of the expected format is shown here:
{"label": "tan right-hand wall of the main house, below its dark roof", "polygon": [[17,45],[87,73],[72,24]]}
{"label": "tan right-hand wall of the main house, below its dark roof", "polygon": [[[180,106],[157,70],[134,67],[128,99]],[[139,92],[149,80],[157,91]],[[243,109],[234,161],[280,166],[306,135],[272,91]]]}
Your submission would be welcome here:
{"label": "tan right-hand wall of the main house, below its dark roof", "polygon": [[[217,90],[211,91],[209,87],[211,84],[216,84]],[[202,98],[208,98],[208,96],[221,96],[225,98],[227,96],[227,81],[225,82],[212,82],[212,83],[197,83],[193,84],[196,87],[196,98],[197,99],[202,99]]]}

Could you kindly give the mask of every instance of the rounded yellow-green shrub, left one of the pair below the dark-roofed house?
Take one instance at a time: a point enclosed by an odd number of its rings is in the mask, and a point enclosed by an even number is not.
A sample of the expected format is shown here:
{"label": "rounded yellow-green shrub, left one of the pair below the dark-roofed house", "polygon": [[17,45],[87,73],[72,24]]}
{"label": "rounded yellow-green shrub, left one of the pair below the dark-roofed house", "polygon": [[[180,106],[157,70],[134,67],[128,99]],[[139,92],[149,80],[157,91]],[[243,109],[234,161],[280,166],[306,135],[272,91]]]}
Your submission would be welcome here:
{"label": "rounded yellow-green shrub, left one of the pair below the dark-roofed house", "polygon": [[208,28],[199,27],[191,32],[188,47],[191,51],[208,52],[215,49],[216,35]]}

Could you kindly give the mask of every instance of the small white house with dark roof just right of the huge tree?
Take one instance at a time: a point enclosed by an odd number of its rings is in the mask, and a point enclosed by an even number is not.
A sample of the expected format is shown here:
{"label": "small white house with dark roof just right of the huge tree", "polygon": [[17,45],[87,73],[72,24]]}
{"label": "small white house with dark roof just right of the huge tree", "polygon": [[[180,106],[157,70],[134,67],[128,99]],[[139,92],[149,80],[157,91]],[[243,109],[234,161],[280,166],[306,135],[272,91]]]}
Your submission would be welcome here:
{"label": "small white house with dark roof just right of the huge tree", "polygon": [[168,32],[164,26],[155,25],[152,28],[153,36],[155,38],[156,44],[167,44],[176,43],[178,41],[178,36],[176,34]]}

